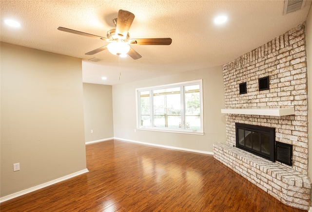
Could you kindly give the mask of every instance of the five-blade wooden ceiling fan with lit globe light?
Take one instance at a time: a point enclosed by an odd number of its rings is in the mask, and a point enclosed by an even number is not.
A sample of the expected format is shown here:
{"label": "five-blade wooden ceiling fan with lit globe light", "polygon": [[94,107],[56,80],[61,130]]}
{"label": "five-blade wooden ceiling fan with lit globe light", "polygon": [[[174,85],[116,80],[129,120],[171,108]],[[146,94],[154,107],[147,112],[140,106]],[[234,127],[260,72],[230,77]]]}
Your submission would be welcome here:
{"label": "five-blade wooden ceiling fan with lit globe light", "polygon": [[92,35],[88,33],[79,32],[76,30],[59,27],[58,30],[64,31],[67,33],[73,33],[77,35],[84,35],[88,37],[98,38],[101,40],[105,40],[109,42],[109,44],[102,46],[98,49],[95,49],[91,52],[85,53],[86,55],[92,55],[95,53],[99,53],[103,50],[108,49],[108,51],[112,54],[122,56],[128,54],[133,59],[139,59],[142,56],[137,53],[134,49],[130,47],[130,45],[170,45],[172,42],[171,38],[138,38],[138,39],[130,39],[130,35],[128,33],[130,26],[135,18],[135,15],[126,10],[118,11],[118,18],[113,20],[116,28],[111,29],[107,32],[107,38],[101,37],[98,35]]}

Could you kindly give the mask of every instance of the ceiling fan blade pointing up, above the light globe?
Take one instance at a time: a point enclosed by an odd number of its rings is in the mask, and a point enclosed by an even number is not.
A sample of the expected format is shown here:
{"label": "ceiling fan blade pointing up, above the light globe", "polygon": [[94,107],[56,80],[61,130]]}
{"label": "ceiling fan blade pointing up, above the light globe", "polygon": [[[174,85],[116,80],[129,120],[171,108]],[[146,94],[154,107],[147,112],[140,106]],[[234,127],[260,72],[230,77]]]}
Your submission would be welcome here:
{"label": "ceiling fan blade pointing up, above the light globe", "polygon": [[126,10],[118,11],[117,25],[116,25],[116,35],[127,36],[130,26],[135,19],[135,15]]}

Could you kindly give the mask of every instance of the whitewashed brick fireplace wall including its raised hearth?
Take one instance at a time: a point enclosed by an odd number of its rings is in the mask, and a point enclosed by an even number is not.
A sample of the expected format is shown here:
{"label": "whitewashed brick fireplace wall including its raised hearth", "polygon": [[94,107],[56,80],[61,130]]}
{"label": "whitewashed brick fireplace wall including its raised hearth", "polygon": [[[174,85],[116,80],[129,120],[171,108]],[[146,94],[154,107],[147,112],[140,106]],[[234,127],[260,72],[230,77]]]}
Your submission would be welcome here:
{"label": "whitewashed brick fireplace wall including its raised hearth", "polygon": [[[308,102],[305,23],[223,65],[226,143],[214,157],[241,176],[295,208],[309,210]],[[259,79],[269,77],[269,88]],[[240,85],[246,83],[246,91]],[[287,115],[229,112],[231,109],[292,109]],[[292,166],[238,149],[235,123],[275,128],[275,141],[292,145]]]}

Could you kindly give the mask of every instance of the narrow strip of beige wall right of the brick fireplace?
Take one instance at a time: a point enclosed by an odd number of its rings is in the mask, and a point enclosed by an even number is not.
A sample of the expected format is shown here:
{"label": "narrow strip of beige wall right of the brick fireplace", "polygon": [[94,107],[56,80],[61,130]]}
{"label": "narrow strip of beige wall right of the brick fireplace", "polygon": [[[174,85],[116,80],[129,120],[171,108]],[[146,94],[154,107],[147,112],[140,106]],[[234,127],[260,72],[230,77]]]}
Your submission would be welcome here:
{"label": "narrow strip of beige wall right of the brick fireplace", "polygon": [[308,119],[309,119],[309,176],[312,176],[312,6],[310,7],[310,12],[306,20],[306,51],[307,51],[307,72],[308,72]]}

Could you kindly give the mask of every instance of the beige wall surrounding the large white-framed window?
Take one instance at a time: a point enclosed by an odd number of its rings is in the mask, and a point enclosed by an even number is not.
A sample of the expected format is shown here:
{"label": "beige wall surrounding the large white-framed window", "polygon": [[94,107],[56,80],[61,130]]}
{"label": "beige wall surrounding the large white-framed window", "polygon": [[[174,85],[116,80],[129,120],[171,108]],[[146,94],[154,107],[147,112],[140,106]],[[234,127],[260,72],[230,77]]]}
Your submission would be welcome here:
{"label": "beige wall surrounding the large white-framed window", "polygon": [[[136,88],[203,79],[204,135],[137,130]],[[166,77],[113,86],[114,137],[179,148],[213,152],[214,142],[225,142],[222,67],[189,71]]]}

